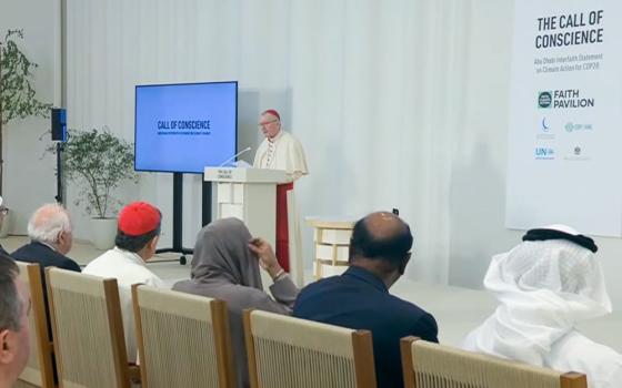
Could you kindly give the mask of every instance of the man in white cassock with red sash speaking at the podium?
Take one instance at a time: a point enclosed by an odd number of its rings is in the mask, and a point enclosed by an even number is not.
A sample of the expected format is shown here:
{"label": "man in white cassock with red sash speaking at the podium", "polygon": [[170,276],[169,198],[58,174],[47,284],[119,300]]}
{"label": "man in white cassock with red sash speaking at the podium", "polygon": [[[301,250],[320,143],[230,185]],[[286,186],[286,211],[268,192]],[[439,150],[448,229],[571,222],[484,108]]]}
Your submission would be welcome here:
{"label": "man in white cassock with red sash speaking at the podium", "polygon": [[300,142],[282,130],[281,115],[273,109],[261,113],[259,127],[265,139],[257,150],[253,166],[257,169],[284,170],[288,183],[277,186],[277,258],[281,267],[290,270],[288,191],[293,182],[309,174],[304,151]]}

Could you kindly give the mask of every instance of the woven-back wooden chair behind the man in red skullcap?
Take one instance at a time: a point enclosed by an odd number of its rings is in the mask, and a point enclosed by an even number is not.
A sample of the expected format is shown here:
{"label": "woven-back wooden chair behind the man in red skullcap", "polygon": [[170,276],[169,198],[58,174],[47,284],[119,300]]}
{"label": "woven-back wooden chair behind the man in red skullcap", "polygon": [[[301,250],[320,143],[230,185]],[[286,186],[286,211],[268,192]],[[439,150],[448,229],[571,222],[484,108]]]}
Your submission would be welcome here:
{"label": "woven-back wooden chair behind the man in red skullcap", "polygon": [[130,387],[117,279],[46,268],[59,386]]}

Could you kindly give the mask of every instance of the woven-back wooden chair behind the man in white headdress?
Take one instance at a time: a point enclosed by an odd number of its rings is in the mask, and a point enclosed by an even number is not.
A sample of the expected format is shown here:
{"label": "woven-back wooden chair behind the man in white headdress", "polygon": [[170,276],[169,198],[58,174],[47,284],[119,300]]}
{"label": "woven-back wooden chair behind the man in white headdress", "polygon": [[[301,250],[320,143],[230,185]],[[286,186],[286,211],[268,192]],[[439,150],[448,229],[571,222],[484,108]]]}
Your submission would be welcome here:
{"label": "woven-back wooden chair behind the man in white headdress", "polygon": [[405,388],[586,388],[585,375],[535,367],[407,337],[401,340]]}

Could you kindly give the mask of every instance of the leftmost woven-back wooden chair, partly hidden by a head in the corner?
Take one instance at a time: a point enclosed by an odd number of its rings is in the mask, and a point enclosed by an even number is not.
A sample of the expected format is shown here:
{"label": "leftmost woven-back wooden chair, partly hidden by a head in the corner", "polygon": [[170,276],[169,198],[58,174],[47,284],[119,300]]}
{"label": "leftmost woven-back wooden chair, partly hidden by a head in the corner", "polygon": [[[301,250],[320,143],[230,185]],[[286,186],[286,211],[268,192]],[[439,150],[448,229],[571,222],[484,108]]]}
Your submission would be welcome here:
{"label": "leftmost woven-back wooden chair, partly hidden by a head in the corner", "polygon": [[28,317],[30,330],[30,358],[16,387],[54,387],[53,346],[48,330],[43,285],[39,264],[16,262],[20,278],[30,289],[31,312]]}

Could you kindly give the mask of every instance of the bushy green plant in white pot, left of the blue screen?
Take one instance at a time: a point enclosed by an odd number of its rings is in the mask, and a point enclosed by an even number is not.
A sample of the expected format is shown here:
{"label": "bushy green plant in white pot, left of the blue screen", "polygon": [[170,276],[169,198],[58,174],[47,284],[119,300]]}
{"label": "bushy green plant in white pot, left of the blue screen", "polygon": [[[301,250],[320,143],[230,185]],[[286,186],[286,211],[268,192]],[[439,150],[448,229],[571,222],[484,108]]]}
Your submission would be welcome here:
{"label": "bushy green plant in white pot, left of the blue screen", "polygon": [[62,151],[62,169],[80,187],[74,204],[83,206],[91,216],[92,241],[99,249],[114,245],[116,214],[122,203],[113,192],[124,181],[137,182],[133,161],[133,146],[106,127],[100,131],[69,130]]}

